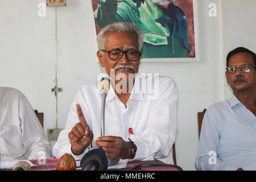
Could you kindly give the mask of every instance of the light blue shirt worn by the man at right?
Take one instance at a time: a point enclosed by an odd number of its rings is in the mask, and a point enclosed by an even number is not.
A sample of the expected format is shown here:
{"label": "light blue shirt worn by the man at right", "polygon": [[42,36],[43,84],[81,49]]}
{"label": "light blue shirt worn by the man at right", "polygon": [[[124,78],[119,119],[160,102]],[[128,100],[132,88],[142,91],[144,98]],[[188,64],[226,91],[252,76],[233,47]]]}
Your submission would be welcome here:
{"label": "light blue shirt worn by the man at right", "polygon": [[211,105],[205,112],[196,167],[256,170],[255,115],[236,96]]}

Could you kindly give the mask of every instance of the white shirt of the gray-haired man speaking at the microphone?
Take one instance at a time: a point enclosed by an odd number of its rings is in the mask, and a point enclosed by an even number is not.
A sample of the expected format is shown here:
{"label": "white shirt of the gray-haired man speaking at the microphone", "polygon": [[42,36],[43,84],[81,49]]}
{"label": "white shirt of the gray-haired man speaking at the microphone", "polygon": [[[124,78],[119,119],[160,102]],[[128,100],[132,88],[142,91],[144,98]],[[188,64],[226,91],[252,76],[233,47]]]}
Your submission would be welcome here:
{"label": "white shirt of the gray-haired man speaking at the microphone", "polygon": [[[101,137],[102,96],[98,91],[99,84],[100,81],[84,85],[77,92],[71,104],[65,129],[61,131],[53,146],[53,155],[56,158],[65,153],[72,154],[68,133],[79,122],[76,104],[80,104],[86,122],[93,131],[93,144],[94,140]],[[164,163],[173,164],[172,146],[176,139],[178,101],[175,81],[170,77],[146,77],[138,74],[126,104],[127,108],[115,94],[112,84],[110,85],[105,105],[105,136],[118,136],[125,141],[131,138],[137,145],[137,153],[133,160],[156,158]],[[154,92],[152,87],[149,89],[150,86],[154,86]],[[129,128],[132,128],[133,135],[129,134]],[[72,155],[75,159],[81,159],[84,154]]]}

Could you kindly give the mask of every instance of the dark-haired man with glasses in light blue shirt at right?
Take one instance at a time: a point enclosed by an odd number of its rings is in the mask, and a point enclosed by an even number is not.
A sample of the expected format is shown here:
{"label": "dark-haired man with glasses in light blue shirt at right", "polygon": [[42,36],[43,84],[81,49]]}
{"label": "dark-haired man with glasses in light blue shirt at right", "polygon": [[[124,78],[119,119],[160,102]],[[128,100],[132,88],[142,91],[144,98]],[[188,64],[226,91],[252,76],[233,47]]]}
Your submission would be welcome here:
{"label": "dark-haired man with glasses in light blue shirt at right", "polygon": [[199,170],[256,170],[256,55],[239,47],[226,59],[228,100],[211,105],[203,119]]}

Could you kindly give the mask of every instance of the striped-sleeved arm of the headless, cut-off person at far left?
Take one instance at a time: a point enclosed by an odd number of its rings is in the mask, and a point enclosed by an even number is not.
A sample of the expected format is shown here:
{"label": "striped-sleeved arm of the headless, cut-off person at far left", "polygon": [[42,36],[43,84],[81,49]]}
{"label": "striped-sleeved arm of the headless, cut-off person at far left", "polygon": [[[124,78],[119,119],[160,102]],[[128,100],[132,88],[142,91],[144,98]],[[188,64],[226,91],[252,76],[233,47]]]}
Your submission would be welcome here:
{"label": "striped-sleeved arm of the headless, cut-off person at far left", "polygon": [[27,159],[51,158],[51,145],[44,133],[35,111],[26,97],[22,98],[19,105],[19,118],[22,130],[22,144],[26,148]]}

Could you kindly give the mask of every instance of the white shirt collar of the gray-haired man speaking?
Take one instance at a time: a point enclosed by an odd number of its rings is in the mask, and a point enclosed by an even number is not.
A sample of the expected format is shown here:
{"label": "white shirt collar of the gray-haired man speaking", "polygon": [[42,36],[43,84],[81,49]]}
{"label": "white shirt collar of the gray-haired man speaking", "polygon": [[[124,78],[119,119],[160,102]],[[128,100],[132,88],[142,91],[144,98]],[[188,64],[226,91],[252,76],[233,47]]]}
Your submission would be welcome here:
{"label": "white shirt collar of the gray-haired man speaking", "polygon": [[[144,96],[142,94],[141,84],[139,81],[139,73],[135,77],[135,82],[133,85],[133,89],[131,90],[131,95],[129,100],[136,100],[136,101],[143,101]],[[106,101],[112,100],[114,97],[117,97],[117,94],[115,93],[115,90],[113,88],[112,82],[110,82],[110,88],[108,91],[108,94],[106,96]]]}

